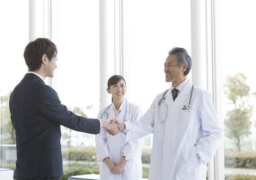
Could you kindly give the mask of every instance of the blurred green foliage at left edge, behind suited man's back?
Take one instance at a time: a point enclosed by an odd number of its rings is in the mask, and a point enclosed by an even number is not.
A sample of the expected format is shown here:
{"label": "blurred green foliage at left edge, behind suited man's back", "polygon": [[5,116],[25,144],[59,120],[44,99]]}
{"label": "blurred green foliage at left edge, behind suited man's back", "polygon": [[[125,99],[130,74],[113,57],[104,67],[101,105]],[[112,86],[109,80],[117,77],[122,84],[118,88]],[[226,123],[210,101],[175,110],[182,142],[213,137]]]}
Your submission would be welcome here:
{"label": "blurred green foliage at left edge, behind suited man's back", "polygon": [[9,108],[9,92],[6,96],[1,96],[1,144],[16,144],[16,134],[12,126],[11,113]]}

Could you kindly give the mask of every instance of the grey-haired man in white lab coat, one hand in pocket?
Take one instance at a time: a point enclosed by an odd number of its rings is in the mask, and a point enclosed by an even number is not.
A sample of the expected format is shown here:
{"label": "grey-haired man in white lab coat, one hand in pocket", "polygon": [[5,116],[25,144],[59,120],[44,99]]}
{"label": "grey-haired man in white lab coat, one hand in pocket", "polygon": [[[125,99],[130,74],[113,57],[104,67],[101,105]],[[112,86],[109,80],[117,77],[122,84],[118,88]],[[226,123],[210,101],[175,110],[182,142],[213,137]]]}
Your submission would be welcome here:
{"label": "grey-haired man in white lab coat, one hand in pocket", "polygon": [[126,142],[154,133],[149,180],[206,180],[222,137],[210,93],[186,78],[191,67],[185,49],[170,50],[164,72],[171,88],[156,96],[139,122],[112,120],[127,133]]}

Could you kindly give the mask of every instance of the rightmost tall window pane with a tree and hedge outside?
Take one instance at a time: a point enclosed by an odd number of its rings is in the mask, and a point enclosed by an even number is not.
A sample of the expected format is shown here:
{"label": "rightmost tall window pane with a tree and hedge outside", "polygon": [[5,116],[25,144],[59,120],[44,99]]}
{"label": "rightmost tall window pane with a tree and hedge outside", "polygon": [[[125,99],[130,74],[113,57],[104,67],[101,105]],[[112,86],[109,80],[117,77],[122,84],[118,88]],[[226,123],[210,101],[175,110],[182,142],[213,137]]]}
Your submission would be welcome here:
{"label": "rightmost tall window pane with a tree and hedge outside", "polygon": [[255,6],[253,0],[222,1],[217,22],[221,25],[222,82],[217,83],[223,87],[224,171],[231,179],[256,178],[250,176],[256,175]]}

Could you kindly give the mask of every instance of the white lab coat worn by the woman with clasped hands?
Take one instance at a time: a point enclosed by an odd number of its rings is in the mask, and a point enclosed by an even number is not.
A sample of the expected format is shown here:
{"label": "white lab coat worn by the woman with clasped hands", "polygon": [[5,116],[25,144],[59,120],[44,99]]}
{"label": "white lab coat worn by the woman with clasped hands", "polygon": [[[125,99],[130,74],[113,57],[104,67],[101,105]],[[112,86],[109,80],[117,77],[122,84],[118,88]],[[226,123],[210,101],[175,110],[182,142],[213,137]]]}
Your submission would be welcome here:
{"label": "white lab coat worn by the woman with clasped hands", "polygon": [[[112,103],[106,111],[109,113],[108,120],[115,118],[113,106],[114,103]],[[100,110],[98,119],[101,118],[101,114],[107,107]],[[122,111],[117,118],[118,120],[124,120],[125,111],[126,104],[124,104]],[[137,105],[127,102],[127,122],[138,122],[142,115],[142,110]],[[102,119],[106,119],[106,114],[102,116]],[[142,180],[141,148],[144,140],[142,138],[133,139],[124,143],[122,139],[124,140],[125,138],[126,134],[124,133],[118,133],[116,136],[111,136],[103,128],[100,129],[100,134],[95,136],[97,158],[98,162],[101,162],[100,180]],[[105,157],[109,157],[114,164],[118,164],[122,159],[123,153],[126,154],[130,160],[126,163],[121,174],[113,174],[102,160]]]}

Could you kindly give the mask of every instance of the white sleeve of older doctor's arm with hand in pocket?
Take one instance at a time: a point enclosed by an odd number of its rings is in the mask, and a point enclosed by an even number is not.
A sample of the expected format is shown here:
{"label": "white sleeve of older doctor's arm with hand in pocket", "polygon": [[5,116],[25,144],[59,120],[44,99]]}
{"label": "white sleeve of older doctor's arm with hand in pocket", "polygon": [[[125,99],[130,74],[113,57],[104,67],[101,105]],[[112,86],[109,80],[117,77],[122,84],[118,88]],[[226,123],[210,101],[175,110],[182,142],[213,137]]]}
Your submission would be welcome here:
{"label": "white sleeve of older doctor's arm with hand in pocket", "polygon": [[223,130],[218,122],[217,114],[212,104],[209,92],[204,91],[199,106],[199,118],[202,122],[204,136],[195,146],[196,153],[201,156],[202,163],[208,163],[214,156]]}

